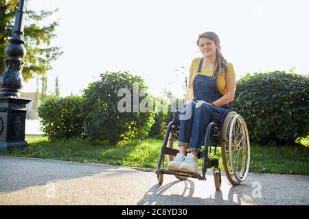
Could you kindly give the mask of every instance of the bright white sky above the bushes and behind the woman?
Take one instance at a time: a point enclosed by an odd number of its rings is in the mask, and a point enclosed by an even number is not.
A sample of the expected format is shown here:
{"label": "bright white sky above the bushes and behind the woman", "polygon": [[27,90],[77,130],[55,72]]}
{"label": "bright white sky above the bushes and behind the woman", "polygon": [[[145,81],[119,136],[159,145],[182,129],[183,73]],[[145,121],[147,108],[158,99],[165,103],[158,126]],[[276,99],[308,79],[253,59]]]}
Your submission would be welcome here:
{"label": "bright white sky above the bushes and behind the woman", "polygon": [[[201,57],[198,34],[205,31],[220,37],[236,79],[291,66],[309,73],[306,0],[31,0],[27,7],[59,10],[53,44],[64,53],[47,73],[47,85],[54,91],[58,75],[61,96],[81,94],[100,73],[119,70],[143,77],[152,94],[168,87],[182,96],[190,64]],[[35,89],[31,80],[22,91]]]}

